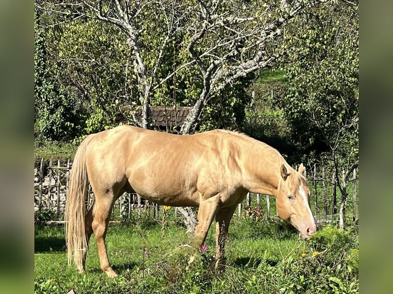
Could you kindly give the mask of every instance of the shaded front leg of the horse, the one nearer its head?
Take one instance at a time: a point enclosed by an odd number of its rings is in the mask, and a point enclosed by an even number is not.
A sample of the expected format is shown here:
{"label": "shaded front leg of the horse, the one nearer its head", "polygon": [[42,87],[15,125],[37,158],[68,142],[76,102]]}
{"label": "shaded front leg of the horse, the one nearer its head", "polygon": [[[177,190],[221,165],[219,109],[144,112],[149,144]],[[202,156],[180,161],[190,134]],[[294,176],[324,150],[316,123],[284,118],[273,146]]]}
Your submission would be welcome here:
{"label": "shaded front leg of the horse, the one nearer its head", "polygon": [[215,216],[215,268],[224,264],[225,242],[228,237],[229,222],[237,205],[220,209]]}

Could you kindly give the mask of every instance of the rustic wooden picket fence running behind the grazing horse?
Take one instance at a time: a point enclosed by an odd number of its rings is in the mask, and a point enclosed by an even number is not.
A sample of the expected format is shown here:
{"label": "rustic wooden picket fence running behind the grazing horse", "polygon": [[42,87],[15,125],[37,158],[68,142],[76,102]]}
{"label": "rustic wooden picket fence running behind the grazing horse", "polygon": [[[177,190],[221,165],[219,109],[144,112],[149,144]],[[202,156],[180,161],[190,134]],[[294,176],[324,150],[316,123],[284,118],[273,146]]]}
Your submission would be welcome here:
{"label": "rustic wooden picket fence running behind the grazing horse", "polygon": [[[56,215],[56,220],[62,220],[68,190],[71,162],[61,164],[60,160],[47,166],[41,160],[40,166],[35,169],[34,175],[34,210],[36,212],[51,211]],[[338,189],[337,177],[334,173],[325,171],[322,166],[318,168],[316,164],[312,166],[311,172],[307,175],[308,185],[311,190],[310,206],[313,215],[319,222],[335,222],[339,218],[339,207],[344,201],[344,212],[351,215],[352,220],[358,219],[358,177],[356,170],[353,170],[352,178],[345,183],[344,176],[341,186],[347,187],[348,197],[343,198]],[[351,196],[351,197],[350,197]],[[86,204],[89,207],[93,203],[94,195],[89,185]],[[338,199],[340,202],[338,202]],[[352,209],[347,210],[351,205]],[[136,220],[143,216],[153,219],[161,219],[164,213],[168,213],[169,207],[145,201],[137,194],[123,194],[114,205],[113,217],[116,220]],[[174,218],[179,215],[176,209],[171,213]],[[276,198],[268,195],[247,194],[246,199],[239,204],[237,215],[239,217],[253,217],[270,220],[277,217]]]}

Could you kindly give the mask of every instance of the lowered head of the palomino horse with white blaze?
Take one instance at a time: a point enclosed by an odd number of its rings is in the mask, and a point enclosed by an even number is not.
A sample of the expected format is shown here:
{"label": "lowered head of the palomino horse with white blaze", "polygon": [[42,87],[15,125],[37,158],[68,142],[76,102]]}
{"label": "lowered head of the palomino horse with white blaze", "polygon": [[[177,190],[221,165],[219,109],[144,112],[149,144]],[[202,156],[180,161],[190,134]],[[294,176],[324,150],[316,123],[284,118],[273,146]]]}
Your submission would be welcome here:
{"label": "lowered head of the palomino horse with white blaze", "polygon": [[303,163],[299,170],[288,172],[281,165],[281,177],[277,195],[277,212],[281,219],[290,222],[304,238],[309,238],[317,230],[310,209],[310,188],[306,183]]}

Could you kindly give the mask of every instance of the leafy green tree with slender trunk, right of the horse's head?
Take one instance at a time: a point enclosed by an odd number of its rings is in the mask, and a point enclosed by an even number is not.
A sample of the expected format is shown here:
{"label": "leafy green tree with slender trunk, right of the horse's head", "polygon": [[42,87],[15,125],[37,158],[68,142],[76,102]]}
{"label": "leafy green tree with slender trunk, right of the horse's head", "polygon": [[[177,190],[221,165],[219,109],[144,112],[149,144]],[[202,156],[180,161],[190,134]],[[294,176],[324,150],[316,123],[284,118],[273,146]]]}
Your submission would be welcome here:
{"label": "leafy green tree with slender trunk, right of the horse's head", "polygon": [[[348,179],[359,164],[358,19],[356,1],[324,5],[298,18],[286,38],[287,94],[277,100],[302,153],[316,151],[332,162],[342,227]],[[299,26],[303,30],[295,32]]]}

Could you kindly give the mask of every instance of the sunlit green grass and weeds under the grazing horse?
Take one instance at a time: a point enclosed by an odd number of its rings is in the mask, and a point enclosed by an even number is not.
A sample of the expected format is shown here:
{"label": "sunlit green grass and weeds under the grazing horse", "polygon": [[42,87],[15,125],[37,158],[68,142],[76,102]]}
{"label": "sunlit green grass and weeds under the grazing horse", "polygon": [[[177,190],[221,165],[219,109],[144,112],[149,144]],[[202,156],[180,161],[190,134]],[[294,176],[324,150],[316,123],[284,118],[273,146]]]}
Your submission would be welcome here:
{"label": "sunlit green grass and weeds under the grazing horse", "polygon": [[108,255],[119,274],[109,279],[100,269],[94,238],[86,272],[67,265],[64,228],[36,225],[36,293],[357,293],[359,238],[356,227],[326,226],[309,241],[282,221],[233,219],[226,266],[214,270],[214,232],[207,250],[191,269],[186,229],[173,221],[141,220],[111,226]]}

